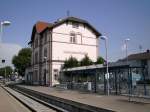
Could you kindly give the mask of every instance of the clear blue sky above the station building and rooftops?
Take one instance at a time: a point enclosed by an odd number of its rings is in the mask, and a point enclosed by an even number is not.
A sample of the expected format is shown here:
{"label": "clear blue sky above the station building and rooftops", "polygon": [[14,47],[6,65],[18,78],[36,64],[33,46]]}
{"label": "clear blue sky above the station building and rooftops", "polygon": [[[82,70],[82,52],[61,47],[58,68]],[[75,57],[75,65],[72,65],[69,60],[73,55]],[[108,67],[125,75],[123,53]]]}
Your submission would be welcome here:
{"label": "clear blue sky above the station building and rooftops", "polygon": [[[0,0],[0,21],[12,24],[4,29],[3,42],[27,47],[33,25],[71,16],[89,21],[109,37],[109,60],[125,56],[123,41],[130,38],[129,53],[150,49],[150,0]],[[100,55],[105,56],[100,41]]]}

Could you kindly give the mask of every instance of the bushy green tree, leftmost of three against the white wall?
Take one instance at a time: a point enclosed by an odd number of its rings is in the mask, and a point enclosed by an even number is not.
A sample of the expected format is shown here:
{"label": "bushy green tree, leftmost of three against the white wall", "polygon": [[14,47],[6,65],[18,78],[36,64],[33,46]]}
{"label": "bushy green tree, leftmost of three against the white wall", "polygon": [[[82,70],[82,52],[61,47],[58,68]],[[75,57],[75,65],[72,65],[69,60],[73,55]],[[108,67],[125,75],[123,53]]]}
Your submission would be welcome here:
{"label": "bushy green tree, leftmost of three against the white wall", "polygon": [[65,60],[64,62],[64,68],[72,68],[79,66],[79,62],[76,58],[70,57],[68,60]]}

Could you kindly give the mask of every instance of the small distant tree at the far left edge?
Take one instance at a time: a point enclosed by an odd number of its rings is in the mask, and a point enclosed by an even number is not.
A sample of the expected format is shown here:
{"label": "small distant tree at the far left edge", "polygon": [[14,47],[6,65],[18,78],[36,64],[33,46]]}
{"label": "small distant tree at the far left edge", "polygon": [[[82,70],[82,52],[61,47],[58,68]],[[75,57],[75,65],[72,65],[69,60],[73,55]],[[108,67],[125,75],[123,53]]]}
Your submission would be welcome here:
{"label": "small distant tree at the far left edge", "polygon": [[5,77],[5,72],[6,72],[6,76],[11,75],[13,70],[10,66],[6,66],[3,68],[0,68],[0,76],[4,76]]}

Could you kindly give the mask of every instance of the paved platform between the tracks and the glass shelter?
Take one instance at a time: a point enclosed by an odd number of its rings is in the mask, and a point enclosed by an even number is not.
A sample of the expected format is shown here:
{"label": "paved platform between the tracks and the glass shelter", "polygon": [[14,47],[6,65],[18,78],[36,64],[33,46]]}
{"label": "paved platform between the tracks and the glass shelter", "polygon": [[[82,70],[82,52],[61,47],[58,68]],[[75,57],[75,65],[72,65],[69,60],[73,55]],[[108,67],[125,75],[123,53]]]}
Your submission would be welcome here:
{"label": "paved platform between the tracks and the glass shelter", "polygon": [[64,98],[67,100],[88,104],[95,107],[113,110],[116,112],[150,112],[150,103],[141,101],[130,101],[127,96],[107,96],[95,93],[85,93],[73,90],[50,88],[43,86],[26,86],[21,87],[45,93],[51,96]]}

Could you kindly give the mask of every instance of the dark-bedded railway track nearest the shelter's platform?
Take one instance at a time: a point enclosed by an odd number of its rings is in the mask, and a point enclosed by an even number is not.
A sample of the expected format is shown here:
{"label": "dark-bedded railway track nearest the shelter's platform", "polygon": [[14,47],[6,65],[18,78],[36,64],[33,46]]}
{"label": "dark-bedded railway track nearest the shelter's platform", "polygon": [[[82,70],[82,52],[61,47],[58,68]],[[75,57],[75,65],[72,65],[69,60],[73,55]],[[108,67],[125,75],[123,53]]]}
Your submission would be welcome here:
{"label": "dark-bedded railway track nearest the shelter's platform", "polygon": [[10,86],[10,88],[57,112],[114,112],[112,110],[51,96],[20,86]]}

